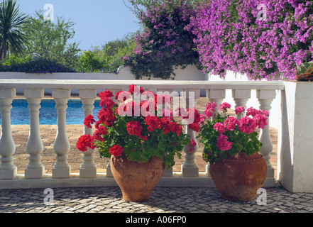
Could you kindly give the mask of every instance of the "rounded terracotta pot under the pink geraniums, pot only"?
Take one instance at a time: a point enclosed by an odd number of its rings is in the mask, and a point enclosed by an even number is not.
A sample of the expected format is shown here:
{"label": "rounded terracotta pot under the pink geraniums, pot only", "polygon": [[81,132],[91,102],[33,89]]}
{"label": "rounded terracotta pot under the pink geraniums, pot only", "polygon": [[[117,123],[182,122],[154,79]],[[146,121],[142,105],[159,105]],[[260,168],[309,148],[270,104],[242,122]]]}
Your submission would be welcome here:
{"label": "rounded terracotta pot under the pink geraniums, pot only", "polygon": [[268,169],[259,153],[250,157],[239,153],[234,157],[219,159],[210,165],[210,175],[224,199],[230,201],[249,201],[255,199],[262,188]]}

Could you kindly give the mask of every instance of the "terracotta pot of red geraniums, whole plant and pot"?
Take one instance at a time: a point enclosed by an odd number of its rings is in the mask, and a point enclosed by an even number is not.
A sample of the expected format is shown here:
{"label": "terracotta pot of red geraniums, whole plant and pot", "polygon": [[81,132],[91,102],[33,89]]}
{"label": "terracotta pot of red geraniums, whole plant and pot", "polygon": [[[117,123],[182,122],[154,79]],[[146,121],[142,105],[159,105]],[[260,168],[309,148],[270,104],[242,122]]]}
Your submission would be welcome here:
{"label": "terracotta pot of red geraniums, whole plant and pot", "polygon": [[194,143],[173,118],[170,96],[134,85],[115,97],[109,90],[99,96],[103,108],[98,121],[92,115],[84,119],[88,128],[94,124],[96,130],[93,135],[82,135],[77,148],[97,148],[102,158],[111,158],[111,172],[123,199],[147,201],[165,167],[175,165],[175,155],[180,158],[183,147]]}

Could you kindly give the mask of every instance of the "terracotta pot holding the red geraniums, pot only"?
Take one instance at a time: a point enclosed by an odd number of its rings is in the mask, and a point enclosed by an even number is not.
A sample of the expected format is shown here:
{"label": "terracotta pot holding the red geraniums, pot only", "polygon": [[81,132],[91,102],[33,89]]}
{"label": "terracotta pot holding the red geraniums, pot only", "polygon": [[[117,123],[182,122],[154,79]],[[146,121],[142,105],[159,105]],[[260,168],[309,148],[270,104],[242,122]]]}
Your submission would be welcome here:
{"label": "terracotta pot holding the red geraniums, pot only", "polygon": [[159,157],[151,157],[148,162],[128,161],[125,155],[111,156],[111,172],[127,201],[142,202],[150,199],[163,176],[165,166]]}

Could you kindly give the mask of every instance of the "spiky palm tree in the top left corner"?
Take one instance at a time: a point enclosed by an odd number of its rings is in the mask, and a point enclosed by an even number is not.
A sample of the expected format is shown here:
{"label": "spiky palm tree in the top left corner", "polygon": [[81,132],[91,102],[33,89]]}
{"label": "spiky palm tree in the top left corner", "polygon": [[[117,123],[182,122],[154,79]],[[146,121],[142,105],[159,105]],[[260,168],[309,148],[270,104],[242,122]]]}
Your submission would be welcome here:
{"label": "spiky palm tree in the top left corner", "polygon": [[28,16],[21,13],[16,1],[3,0],[0,5],[0,60],[5,59],[9,53],[23,52],[27,36],[21,27],[28,21]]}

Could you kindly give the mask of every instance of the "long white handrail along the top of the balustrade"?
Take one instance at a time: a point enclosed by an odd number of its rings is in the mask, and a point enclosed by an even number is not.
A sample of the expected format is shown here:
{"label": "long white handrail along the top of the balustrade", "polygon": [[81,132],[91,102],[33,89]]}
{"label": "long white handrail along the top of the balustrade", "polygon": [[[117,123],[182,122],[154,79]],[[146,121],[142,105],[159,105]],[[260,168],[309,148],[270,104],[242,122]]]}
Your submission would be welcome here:
{"label": "long white handrail along the top of the balustrade", "polygon": [[262,89],[284,90],[281,81],[177,81],[177,80],[88,80],[88,79],[0,79],[0,88],[127,89],[130,84],[149,89]]}

